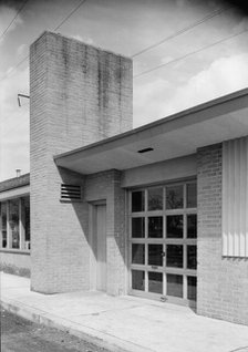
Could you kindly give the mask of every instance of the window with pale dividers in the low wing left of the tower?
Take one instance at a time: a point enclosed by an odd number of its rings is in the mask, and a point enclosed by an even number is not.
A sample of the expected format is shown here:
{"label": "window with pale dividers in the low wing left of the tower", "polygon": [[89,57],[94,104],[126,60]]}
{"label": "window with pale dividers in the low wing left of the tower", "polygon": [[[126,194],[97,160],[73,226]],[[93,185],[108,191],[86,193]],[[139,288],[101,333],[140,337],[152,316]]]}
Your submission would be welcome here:
{"label": "window with pale dividers in the low wing left of the tower", "polygon": [[0,248],[30,249],[30,198],[0,203]]}

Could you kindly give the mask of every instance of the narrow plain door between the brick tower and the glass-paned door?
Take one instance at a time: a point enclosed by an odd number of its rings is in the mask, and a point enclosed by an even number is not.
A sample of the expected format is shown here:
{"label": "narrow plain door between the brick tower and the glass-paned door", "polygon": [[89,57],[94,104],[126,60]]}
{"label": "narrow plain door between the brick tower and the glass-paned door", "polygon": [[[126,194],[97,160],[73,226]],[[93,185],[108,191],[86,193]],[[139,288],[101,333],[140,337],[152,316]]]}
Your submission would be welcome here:
{"label": "narrow plain door between the brick tower and the glass-paned door", "polygon": [[106,205],[95,206],[95,286],[96,290],[106,291]]}

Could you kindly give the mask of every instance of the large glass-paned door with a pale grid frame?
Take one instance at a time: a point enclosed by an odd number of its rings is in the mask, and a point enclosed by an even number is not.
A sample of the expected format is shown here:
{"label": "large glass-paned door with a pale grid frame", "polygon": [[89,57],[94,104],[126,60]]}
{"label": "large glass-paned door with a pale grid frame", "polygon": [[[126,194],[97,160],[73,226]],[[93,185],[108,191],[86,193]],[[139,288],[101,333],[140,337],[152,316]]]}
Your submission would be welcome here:
{"label": "large glass-paned door with a pale grid frame", "polygon": [[197,286],[196,183],[131,193],[131,293],[193,303]]}

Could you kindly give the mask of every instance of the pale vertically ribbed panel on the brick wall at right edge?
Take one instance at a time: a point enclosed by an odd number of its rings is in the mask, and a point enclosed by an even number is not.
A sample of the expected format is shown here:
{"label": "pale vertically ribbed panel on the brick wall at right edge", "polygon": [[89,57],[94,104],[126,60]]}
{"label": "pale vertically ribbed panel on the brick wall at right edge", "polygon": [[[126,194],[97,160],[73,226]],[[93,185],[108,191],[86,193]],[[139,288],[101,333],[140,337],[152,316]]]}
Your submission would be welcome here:
{"label": "pale vertically ribbed panel on the brick wall at right edge", "polygon": [[223,144],[223,255],[248,258],[248,137]]}

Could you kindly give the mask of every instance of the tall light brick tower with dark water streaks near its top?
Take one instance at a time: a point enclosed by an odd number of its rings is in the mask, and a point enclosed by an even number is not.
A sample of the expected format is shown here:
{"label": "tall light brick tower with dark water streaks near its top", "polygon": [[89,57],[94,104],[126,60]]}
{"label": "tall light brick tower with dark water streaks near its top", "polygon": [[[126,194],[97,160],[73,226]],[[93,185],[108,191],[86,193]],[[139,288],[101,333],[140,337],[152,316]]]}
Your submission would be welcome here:
{"label": "tall light brick tower with dark water streaks near its top", "polygon": [[53,156],[132,128],[132,61],[44,32],[30,50],[31,286],[89,287],[87,207],[60,201],[61,183],[84,177]]}

